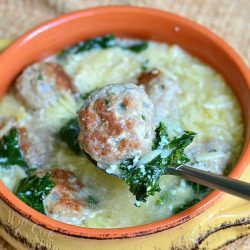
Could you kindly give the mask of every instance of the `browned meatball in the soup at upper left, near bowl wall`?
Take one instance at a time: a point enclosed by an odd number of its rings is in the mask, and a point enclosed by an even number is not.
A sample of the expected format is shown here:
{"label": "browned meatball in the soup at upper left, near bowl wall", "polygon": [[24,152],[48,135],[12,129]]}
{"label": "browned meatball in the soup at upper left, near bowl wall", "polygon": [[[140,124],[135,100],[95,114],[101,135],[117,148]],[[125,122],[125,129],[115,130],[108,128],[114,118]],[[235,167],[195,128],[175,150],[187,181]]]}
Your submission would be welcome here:
{"label": "browned meatball in the soup at upper left, near bowl wall", "polygon": [[27,67],[15,84],[17,98],[32,110],[41,109],[60,97],[62,91],[72,89],[63,68],[52,62],[41,62]]}

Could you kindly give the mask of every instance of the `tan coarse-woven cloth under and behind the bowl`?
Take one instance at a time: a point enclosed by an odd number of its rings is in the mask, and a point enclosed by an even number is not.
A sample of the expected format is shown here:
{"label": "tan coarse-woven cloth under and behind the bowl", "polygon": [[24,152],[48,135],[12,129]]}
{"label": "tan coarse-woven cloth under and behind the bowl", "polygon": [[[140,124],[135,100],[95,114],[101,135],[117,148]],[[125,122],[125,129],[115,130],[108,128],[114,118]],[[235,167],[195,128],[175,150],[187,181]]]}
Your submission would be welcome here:
{"label": "tan coarse-woven cloth under and behind the bowl", "polygon": [[[250,66],[250,0],[0,0],[0,38],[16,38],[59,14],[99,5],[138,5],[175,12],[213,30]],[[0,249],[12,249],[0,238]],[[250,249],[245,237],[225,249]]]}

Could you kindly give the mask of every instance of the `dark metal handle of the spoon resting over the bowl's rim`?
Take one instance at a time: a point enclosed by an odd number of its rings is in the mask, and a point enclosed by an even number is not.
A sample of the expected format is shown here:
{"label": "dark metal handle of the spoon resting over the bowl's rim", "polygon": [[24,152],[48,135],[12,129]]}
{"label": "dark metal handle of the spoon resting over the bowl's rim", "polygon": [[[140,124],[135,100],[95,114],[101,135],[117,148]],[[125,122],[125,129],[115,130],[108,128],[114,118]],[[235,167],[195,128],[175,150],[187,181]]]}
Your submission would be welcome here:
{"label": "dark metal handle of the spoon resting over the bowl's rim", "polygon": [[238,181],[222,175],[212,174],[207,171],[191,168],[188,166],[168,168],[166,173],[178,175],[184,179],[199,183],[201,185],[213,189],[219,189],[226,193],[250,200],[250,183],[247,182]]}

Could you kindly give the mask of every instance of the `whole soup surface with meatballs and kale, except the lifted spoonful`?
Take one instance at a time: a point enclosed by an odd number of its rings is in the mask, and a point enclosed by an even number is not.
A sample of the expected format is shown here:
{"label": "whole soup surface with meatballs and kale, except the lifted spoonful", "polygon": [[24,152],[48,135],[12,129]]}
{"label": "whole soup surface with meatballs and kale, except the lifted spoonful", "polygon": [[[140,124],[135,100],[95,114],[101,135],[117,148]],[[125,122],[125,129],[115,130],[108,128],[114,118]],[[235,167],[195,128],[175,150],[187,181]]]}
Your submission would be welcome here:
{"label": "whole soup surface with meatballs and kale, except the lifted spoonful", "polygon": [[[5,136],[10,136],[10,131],[14,136],[13,128],[18,128],[20,141],[27,140],[24,146],[19,143],[25,163],[20,163],[21,156],[19,161],[9,163],[1,160],[0,178],[38,211],[70,224],[116,228],[169,217],[192,206],[210,190],[179,177],[162,176],[160,192],[137,207],[128,185],[97,169],[81,153],[76,154],[60,137],[61,128],[76,117],[85,96],[94,89],[113,83],[137,83],[154,104],[156,124],[163,122],[170,137],[183,130],[197,133],[185,150],[189,164],[225,174],[237,161],[243,144],[239,104],[218,72],[177,45],[113,37],[102,44],[103,38],[98,39],[92,40],[92,45],[91,41],[80,43],[45,59],[42,65],[39,62],[28,67],[3,98],[0,159],[4,158],[3,142],[10,138]],[[34,79],[39,85],[35,90],[33,83],[23,88],[23,82]],[[60,84],[52,83],[50,89],[48,83],[54,80]],[[36,95],[30,94],[34,92]],[[34,171],[30,168],[57,169],[52,170],[54,184],[49,190],[53,188],[53,192],[44,193],[42,208],[29,199],[34,190],[26,189],[24,178]],[[38,183],[37,179],[33,181]],[[47,188],[45,183],[40,183],[44,185],[41,188]]]}

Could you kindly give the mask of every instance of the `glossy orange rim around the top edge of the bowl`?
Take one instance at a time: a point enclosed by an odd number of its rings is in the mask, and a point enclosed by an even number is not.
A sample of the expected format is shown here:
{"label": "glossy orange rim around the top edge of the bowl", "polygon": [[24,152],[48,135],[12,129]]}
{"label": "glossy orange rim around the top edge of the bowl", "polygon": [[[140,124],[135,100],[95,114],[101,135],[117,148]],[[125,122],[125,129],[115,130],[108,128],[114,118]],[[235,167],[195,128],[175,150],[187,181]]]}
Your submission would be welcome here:
{"label": "glossy orange rim around the top edge of the bowl", "polygon": [[[209,29],[204,26],[197,24],[194,21],[191,21],[185,17],[179,16],[177,14],[157,10],[153,8],[146,7],[136,7],[136,6],[125,6],[125,5],[115,5],[115,6],[103,6],[103,7],[94,7],[88,8],[84,10],[78,10],[74,12],[70,12],[59,17],[50,19],[38,26],[35,26],[30,31],[26,32],[20,38],[18,38],[12,45],[10,45],[2,55],[8,56],[9,51],[13,49],[18,49],[18,47],[24,43],[29,42],[32,37],[37,34],[43,32],[44,30],[53,28],[57,25],[63,24],[70,20],[75,20],[78,17],[82,17],[84,15],[98,14],[98,13],[106,13],[108,14],[110,11],[124,11],[127,14],[129,12],[140,12],[144,14],[154,14],[154,15],[163,15],[171,17],[173,20],[178,20],[182,22],[185,26],[192,27],[197,32],[206,36],[213,43],[219,45],[219,47],[224,50],[224,52],[231,57],[234,61],[238,69],[240,70],[243,77],[246,79],[248,83],[248,88],[250,87],[250,71],[240,56],[234,51],[232,47],[230,47],[222,38],[212,33]],[[0,56],[0,63],[1,57]],[[250,142],[247,141],[245,143],[245,147],[242,151],[242,155],[236,165],[236,167],[230,172],[229,177],[231,178],[239,178],[243,171],[247,168],[247,163],[250,162]],[[247,154],[248,152],[248,154]],[[22,217],[25,217],[29,221],[45,228],[51,230],[55,233],[60,233],[64,235],[69,235],[77,238],[87,238],[87,239],[98,239],[98,240],[106,240],[106,239],[122,239],[122,238],[132,238],[138,236],[144,236],[156,232],[160,232],[190,220],[191,218],[196,217],[200,213],[204,212],[206,208],[212,206],[222,195],[221,191],[213,191],[200,202],[190,207],[189,209],[184,210],[183,212],[171,216],[169,218],[165,218],[162,220],[158,220],[156,222],[143,224],[139,226],[132,227],[124,227],[124,228],[86,228],[81,226],[74,226],[70,224],[66,224],[60,221],[56,221],[52,218],[49,218],[46,215],[39,213],[33,208],[29,207],[21,200],[19,200],[8,188],[0,181],[0,198],[1,200],[9,206],[12,210],[20,214]]]}

